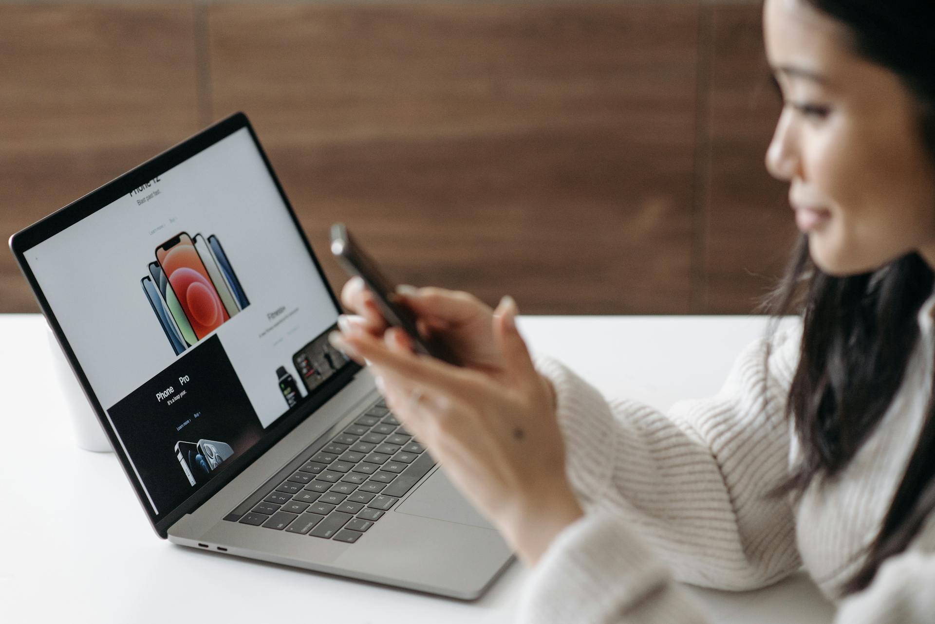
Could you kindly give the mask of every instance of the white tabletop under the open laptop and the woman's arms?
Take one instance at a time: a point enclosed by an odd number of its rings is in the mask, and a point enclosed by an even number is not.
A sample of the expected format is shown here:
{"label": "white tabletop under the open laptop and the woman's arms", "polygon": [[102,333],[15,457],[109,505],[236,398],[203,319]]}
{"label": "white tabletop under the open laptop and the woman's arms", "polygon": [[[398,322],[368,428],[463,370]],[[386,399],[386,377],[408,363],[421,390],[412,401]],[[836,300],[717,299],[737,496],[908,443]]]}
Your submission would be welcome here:
{"label": "white tabletop under the open laptop and the woman's arms", "polygon": [[[608,395],[665,408],[711,394],[763,331],[745,317],[527,317],[521,330]],[[511,622],[518,563],[475,603],[173,546],[152,532],[111,453],[74,444],[45,321],[0,315],[0,620],[4,622]],[[804,576],[743,594],[692,589],[713,622],[818,624]],[[351,608],[350,613],[347,611]]]}

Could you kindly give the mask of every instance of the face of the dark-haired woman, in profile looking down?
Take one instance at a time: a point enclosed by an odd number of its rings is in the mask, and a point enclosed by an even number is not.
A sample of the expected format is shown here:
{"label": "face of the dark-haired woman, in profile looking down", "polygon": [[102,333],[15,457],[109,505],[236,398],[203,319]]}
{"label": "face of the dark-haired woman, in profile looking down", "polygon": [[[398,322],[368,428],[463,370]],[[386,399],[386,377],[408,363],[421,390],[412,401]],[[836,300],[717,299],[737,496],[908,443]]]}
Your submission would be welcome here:
{"label": "face of the dark-haired woman, in profile looking down", "polygon": [[935,159],[913,95],[804,0],[766,0],[763,30],[784,98],[767,168],[815,264],[844,276],[914,250],[935,266]]}

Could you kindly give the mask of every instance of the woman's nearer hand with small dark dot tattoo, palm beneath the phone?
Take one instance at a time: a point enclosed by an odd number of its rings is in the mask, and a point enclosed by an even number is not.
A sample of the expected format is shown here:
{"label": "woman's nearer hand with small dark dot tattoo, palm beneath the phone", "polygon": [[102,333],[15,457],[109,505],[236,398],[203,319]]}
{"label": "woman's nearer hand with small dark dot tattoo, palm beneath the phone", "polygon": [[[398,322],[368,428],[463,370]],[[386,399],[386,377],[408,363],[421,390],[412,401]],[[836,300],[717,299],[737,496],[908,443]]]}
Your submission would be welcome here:
{"label": "woman's nearer hand with small dark dot tattoo, palm beneath the phone", "polygon": [[396,328],[378,336],[353,323],[331,338],[369,362],[396,417],[532,564],[583,512],[565,475],[551,386],[533,366],[515,315],[507,297],[487,317],[486,331],[473,328],[491,336],[479,353],[496,362],[494,375],[414,353]]}

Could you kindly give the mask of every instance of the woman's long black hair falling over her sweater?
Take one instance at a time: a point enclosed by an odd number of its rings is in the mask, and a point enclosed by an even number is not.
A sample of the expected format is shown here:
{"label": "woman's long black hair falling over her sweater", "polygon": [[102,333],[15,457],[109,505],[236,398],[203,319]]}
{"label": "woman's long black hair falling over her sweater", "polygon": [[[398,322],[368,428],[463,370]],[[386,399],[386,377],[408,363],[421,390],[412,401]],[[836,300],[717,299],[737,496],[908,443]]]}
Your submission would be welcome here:
{"label": "woman's long black hair falling over her sweater", "polygon": [[[857,54],[899,76],[915,96],[919,134],[935,163],[935,2],[802,2],[846,26]],[[800,360],[786,404],[802,459],[777,492],[801,493],[815,478],[840,475],[854,459],[899,390],[920,337],[916,317],[933,286],[931,268],[916,253],[869,273],[829,276],[812,262],[807,236],[799,237],[768,303],[777,318],[803,317]],[[930,401],[880,532],[844,591],[867,588],[883,561],[906,549],[933,509],[935,402]]]}

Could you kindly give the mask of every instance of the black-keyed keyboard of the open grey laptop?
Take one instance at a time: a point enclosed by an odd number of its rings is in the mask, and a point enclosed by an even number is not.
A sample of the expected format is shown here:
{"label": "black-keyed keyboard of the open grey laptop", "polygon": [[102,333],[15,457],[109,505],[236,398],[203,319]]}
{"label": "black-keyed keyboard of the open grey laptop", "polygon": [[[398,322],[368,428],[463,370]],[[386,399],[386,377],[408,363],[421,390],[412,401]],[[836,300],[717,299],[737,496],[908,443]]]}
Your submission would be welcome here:
{"label": "black-keyed keyboard of the open grey laptop", "polygon": [[353,544],[435,465],[382,399],[324,447],[310,448],[295,472],[251,497],[261,502],[224,519]]}

